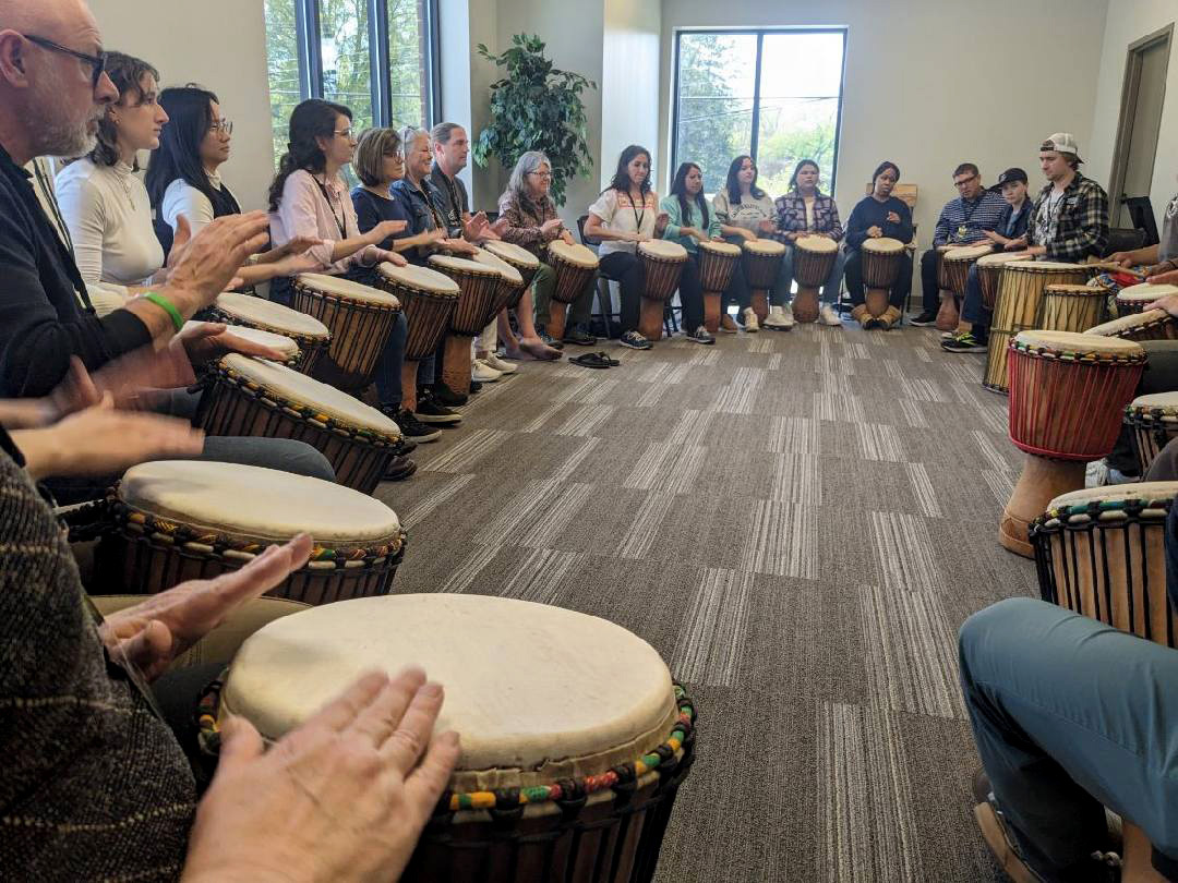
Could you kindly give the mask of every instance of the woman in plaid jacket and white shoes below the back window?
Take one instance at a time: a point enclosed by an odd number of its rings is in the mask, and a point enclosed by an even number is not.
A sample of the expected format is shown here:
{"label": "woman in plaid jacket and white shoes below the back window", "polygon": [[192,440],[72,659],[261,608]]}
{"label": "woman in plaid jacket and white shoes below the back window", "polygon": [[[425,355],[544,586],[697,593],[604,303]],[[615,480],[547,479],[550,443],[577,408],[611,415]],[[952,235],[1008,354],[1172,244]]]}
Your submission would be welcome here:
{"label": "woman in plaid jacket and white shoes below the back window", "polygon": [[[834,199],[819,190],[820,177],[818,162],[812,159],[798,160],[794,166],[794,174],[789,179],[789,192],[783,197],[777,197],[774,204],[777,211],[777,230],[773,234],[786,246],[786,258],[781,261],[781,275],[777,285],[773,290],[773,300],[769,306],[769,316],[765,320],[766,327],[774,325],[785,327],[786,323],[793,324],[793,314],[789,304],[781,298],[788,298],[794,284],[794,243],[802,237],[819,235],[842,241],[842,224],[839,223],[839,206]],[[842,285],[843,254],[838,252],[830,274],[822,285],[822,308],[820,310],[820,321],[823,325],[842,326],[834,305],[839,300],[839,287]]]}

